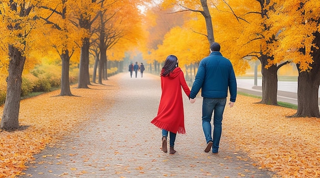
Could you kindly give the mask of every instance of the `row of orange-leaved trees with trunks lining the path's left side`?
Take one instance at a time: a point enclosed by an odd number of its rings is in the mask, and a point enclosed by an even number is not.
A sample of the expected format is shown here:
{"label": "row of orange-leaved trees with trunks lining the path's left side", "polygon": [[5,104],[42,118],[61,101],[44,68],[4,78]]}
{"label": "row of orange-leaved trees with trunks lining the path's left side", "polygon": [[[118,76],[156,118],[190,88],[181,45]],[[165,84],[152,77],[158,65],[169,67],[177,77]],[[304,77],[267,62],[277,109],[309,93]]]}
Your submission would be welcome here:
{"label": "row of orange-leaved trees with trunks lining the path's left side", "polygon": [[[45,56],[45,51],[56,50],[61,58],[61,93],[60,95],[72,95],[69,84],[70,59],[74,54],[79,53],[79,84],[78,88],[88,88],[89,81],[89,46],[90,38],[93,36],[93,28],[99,29],[99,23],[95,23],[101,12],[108,12],[109,16],[100,16],[101,22],[105,18],[112,18],[113,23],[105,23],[108,29],[100,29],[100,32],[107,34],[105,41],[109,41],[108,48],[119,41],[120,38],[132,38],[131,42],[137,41],[135,36],[139,36],[141,30],[131,31],[125,24],[130,21],[130,17],[138,17],[138,9],[135,7],[142,1],[108,1],[110,6],[102,6],[104,1],[2,1],[0,17],[2,21],[1,30],[1,71],[7,70],[7,96],[3,117],[1,119],[1,129],[13,131],[19,129],[19,104],[21,93],[21,75],[28,61],[32,66],[32,57]],[[107,1],[105,1],[106,3]],[[112,6],[111,6],[112,5]],[[116,17],[116,12],[134,14],[126,16],[121,14]],[[114,19],[113,19],[114,17]],[[139,18],[136,18],[139,20]],[[133,20],[133,22],[138,22]],[[93,27],[93,24],[98,26]],[[138,26],[137,26],[138,27]],[[139,29],[139,28],[136,28]],[[112,35],[120,33],[121,35]],[[43,40],[45,39],[45,40]],[[105,42],[104,41],[104,42]],[[125,44],[125,43],[123,43]],[[43,47],[41,47],[43,46]],[[51,49],[50,49],[51,48]],[[106,48],[104,48],[106,50]],[[126,49],[124,47],[123,49]],[[105,52],[104,50],[104,52]],[[40,55],[31,55],[39,53]],[[123,52],[124,53],[124,52]],[[47,54],[50,56],[49,54]],[[105,55],[106,58],[106,55]],[[35,64],[35,62],[34,62]],[[8,66],[8,67],[7,67]]]}

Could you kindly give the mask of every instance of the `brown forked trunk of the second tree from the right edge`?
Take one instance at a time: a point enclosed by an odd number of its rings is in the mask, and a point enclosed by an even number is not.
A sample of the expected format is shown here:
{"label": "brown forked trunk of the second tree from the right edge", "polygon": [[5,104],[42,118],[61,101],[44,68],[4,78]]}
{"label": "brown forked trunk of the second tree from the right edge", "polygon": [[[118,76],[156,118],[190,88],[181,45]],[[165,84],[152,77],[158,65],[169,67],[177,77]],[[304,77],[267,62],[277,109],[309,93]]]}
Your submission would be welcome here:
{"label": "brown forked trunk of the second tree from the right edge", "polygon": [[262,55],[259,58],[262,73],[262,100],[259,103],[266,105],[278,105],[278,69],[276,65],[272,65],[266,69],[264,66],[268,63],[267,59],[268,58],[265,55]]}

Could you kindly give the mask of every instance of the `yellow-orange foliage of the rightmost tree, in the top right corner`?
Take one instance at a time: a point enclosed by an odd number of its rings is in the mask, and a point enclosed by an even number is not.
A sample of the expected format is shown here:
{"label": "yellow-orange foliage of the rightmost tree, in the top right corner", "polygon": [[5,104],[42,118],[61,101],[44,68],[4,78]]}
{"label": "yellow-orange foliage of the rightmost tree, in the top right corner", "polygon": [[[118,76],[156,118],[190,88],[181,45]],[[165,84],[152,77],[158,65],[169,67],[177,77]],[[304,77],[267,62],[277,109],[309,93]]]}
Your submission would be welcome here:
{"label": "yellow-orange foliage of the rightmost tree, in the top right corner", "polygon": [[[277,41],[270,44],[272,55],[277,63],[283,60],[299,64],[300,71],[311,69],[311,47],[318,47],[313,43],[315,32],[319,31],[319,1],[279,1],[271,4],[275,11],[270,11],[267,21],[273,32],[277,33]],[[301,49],[304,49],[304,53]]]}

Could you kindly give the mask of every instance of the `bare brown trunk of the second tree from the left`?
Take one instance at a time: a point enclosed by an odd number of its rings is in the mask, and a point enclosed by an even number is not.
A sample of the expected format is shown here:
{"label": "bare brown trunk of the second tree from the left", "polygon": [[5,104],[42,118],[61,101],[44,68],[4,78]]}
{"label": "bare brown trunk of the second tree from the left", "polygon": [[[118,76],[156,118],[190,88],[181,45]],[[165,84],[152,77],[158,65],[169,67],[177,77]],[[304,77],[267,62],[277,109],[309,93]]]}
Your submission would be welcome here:
{"label": "bare brown trunk of the second tree from the left", "polygon": [[69,66],[70,66],[70,56],[69,51],[61,55],[62,60],[62,70],[61,70],[61,92],[60,96],[73,96],[70,90],[70,81],[69,81]]}

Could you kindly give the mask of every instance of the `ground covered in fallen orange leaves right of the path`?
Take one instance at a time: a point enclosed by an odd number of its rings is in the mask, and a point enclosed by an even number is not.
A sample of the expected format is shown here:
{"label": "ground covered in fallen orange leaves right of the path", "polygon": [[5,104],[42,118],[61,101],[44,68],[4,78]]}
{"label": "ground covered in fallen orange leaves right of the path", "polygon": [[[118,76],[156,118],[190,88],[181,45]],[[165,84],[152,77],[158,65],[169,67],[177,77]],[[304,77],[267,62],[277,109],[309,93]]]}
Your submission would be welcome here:
{"label": "ground covered in fallen orange leaves right of the path", "polygon": [[235,107],[226,107],[228,140],[283,177],[320,177],[320,119],[290,118],[296,110],[255,104],[259,101],[238,95]]}

